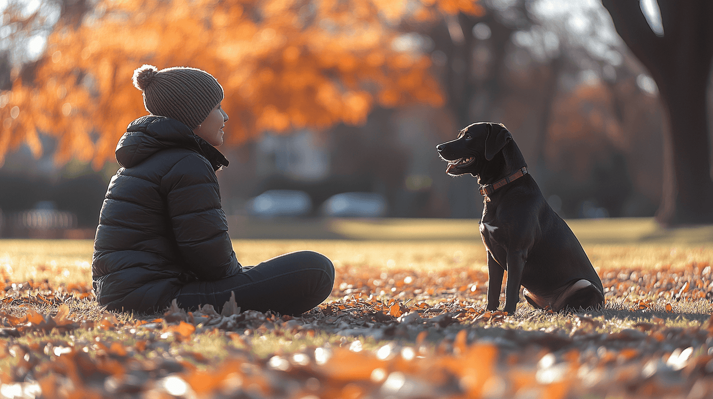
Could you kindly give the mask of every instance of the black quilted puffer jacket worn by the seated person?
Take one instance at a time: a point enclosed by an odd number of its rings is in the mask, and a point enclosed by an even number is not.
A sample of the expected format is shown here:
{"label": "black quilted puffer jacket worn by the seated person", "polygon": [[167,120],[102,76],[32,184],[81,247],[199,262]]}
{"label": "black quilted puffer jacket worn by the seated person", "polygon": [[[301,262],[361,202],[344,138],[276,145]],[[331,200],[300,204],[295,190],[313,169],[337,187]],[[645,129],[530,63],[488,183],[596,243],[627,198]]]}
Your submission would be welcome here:
{"label": "black quilted puffer jacket worn by the seated person", "polygon": [[175,119],[148,116],[129,124],[116,160],[94,240],[99,304],[156,312],[187,282],[240,272],[215,176],[228,163],[220,151]]}

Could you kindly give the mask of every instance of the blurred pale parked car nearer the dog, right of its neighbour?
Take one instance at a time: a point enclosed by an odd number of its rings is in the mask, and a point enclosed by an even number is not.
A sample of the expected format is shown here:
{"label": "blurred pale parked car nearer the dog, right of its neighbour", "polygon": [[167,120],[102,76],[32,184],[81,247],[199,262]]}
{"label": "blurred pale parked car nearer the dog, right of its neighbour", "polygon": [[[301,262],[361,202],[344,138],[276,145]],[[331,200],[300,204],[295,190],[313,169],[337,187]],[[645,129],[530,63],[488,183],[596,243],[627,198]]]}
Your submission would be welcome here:
{"label": "blurred pale parked car nearer the dog, right of its neighbour", "polygon": [[324,216],[380,218],[386,215],[386,198],[379,193],[351,192],[334,194],[322,203]]}

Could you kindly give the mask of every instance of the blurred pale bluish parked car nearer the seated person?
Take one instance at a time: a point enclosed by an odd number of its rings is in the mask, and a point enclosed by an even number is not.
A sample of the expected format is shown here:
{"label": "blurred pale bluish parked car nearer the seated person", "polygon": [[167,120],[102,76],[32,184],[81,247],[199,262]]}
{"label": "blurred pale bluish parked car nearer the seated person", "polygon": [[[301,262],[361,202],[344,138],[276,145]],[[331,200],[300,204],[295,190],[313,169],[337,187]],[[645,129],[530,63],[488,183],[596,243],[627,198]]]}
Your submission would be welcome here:
{"label": "blurred pale bluish parked car nearer the seated person", "polygon": [[263,218],[304,216],[312,211],[312,198],[300,190],[267,190],[248,201],[246,210]]}

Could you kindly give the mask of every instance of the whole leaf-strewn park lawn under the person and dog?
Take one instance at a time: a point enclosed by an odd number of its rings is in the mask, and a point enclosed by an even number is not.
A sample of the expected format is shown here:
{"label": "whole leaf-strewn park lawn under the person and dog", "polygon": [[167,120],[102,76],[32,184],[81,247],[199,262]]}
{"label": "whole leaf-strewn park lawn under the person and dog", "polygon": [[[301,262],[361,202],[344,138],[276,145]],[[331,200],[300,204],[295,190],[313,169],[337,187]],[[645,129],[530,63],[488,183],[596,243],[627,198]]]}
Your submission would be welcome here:
{"label": "whole leaf-strewn park lawn under the person and dog", "polygon": [[605,309],[520,303],[506,316],[484,311],[477,223],[446,222],[334,220],[319,228],[349,240],[235,240],[243,265],[302,249],[334,260],[332,297],[297,318],[108,314],[91,294],[90,240],[0,240],[0,398],[713,395],[713,228],[573,220]]}

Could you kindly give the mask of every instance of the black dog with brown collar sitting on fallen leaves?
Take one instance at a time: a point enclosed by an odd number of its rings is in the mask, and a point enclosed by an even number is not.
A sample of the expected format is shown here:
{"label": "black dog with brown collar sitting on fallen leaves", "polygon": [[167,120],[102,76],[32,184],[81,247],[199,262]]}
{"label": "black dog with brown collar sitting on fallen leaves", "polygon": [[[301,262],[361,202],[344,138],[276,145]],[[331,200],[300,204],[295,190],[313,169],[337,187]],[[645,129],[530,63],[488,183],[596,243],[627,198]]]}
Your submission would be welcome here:
{"label": "black dog with brown collar sitting on fallen leaves", "polygon": [[436,147],[451,176],[471,174],[485,208],[481,237],[488,251],[488,310],[497,310],[508,270],[505,311],[515,313],[520,284],[537,308],[604,306],[602,281],[567,223],[550,208],[503,124],[478,122]]}

